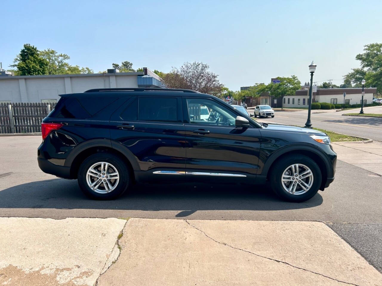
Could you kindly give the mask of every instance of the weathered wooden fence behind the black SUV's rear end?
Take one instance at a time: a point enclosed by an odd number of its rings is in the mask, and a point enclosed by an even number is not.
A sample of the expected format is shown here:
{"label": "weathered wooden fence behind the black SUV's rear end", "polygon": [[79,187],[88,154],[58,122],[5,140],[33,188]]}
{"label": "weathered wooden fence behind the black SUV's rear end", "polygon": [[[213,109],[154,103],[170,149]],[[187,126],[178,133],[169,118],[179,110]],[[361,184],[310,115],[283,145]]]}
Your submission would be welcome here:
{"label": "weathered wooden fence behind the black SUV's rear end", "polygon": [[0,133],[41,132],[41,122],[55,103],[0,103]]}

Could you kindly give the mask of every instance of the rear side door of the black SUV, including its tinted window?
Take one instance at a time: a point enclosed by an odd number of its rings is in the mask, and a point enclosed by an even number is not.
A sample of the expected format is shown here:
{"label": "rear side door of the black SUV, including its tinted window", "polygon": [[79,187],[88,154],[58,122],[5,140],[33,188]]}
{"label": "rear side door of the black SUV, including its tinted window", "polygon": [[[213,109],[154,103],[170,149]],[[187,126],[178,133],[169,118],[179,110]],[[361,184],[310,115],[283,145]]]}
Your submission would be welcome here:
{"label": "rear side door of the black SUV, including its tinted window", "polygon": [[185,175],[186,149],[181,98],[133,96],[110,118],[110,138],[125,146],[139,175]]}

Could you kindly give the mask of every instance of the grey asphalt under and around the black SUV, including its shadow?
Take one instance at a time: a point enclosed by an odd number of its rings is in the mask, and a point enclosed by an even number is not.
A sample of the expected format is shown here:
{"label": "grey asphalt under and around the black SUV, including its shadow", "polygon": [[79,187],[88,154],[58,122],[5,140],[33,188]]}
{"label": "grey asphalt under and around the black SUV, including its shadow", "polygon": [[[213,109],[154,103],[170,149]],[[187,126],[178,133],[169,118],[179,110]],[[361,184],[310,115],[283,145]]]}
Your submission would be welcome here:
{"label": "grey asphalt under and around the black SUV, including its shadow", "polygon": [[354,165],[338,161],[334,182],[303,203],[280,201],[269,186],[215,178],[209,185],[140,184],[115,201],[92,201],[75,180],[40,171],[40,141],[0,137],[0,216],[320,221],[382,271],[382,177]]}

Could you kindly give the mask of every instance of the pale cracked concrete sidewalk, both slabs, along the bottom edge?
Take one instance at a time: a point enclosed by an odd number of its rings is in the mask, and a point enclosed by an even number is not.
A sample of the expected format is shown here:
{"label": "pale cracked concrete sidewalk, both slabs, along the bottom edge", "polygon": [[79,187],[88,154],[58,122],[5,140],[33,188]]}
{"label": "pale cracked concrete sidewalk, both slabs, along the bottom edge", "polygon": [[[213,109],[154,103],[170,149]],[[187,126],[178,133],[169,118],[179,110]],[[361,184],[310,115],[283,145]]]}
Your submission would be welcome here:
{"label": "pale cracked concrete sidewalk, both slabs, along the bottom edge", "polygon": [[0,233],[7,286],[382,285],[320,222],[0,218]]}

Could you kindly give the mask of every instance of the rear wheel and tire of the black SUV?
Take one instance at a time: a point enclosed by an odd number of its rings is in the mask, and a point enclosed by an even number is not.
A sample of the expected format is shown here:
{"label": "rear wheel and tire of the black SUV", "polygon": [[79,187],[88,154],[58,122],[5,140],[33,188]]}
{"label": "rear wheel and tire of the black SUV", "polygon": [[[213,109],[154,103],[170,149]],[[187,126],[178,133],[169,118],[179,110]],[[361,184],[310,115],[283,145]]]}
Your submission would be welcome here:
{"label": "rear wheel and tire of the black SUV", "polygon": [[[101,166],[106,166],[106,164],[101,164],[102,162],[107,163],[107,172],[103,174],[101,172]],[[87,174],[90,167],[94,166],[93,170],[96,172],[91,172],[92,175]],[[99,167],[98,167],[99,166]],[[117,173],[117,175],[115,175]],[[107,174],[114,174],[115,177],[106,181],[106,186],[104,182],[106,180]],[[129,187],[131,183],[131,174],[128,166],[120,158],[110,153],[97,153],[87,157],[78,169],[78,185],[81,190],[91,199],[108,200],[115,199],[121,194],[123,194]],[[96,182],[97,176],[101,175],[101,182],[97,189],[93,190],[89,184],[95,183],[95,187],[99,184]],[[102,177],[104,176],[104,177]],[[118,177],[118,178],[117,178]],[[89,183],[88,183],[89,181]],[[109,184],[108,184],[109,183]]]}

